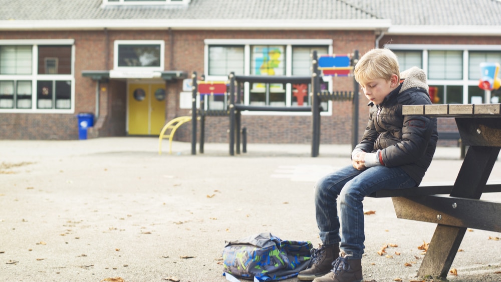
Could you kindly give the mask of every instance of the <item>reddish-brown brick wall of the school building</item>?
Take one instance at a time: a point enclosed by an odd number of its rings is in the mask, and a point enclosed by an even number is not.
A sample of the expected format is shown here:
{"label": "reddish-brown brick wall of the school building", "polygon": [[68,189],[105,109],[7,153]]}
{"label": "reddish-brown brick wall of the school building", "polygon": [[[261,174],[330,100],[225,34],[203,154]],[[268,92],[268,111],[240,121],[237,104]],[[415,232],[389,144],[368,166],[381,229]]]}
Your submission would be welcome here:
{"label": "reddish-brown brick wall of the school building", "polygon": [[[96,82],[81,75],[84,70],[113,69],[115,40],[163,40],[165,42],[165,69],[181,70],[191,76],[203,74],[204,39],[332,39],[334,53],[360,51],[362,56],[374,46],[371,31],[57,31],[57,32],[3,32],[0,39],[74,39],[75,40],[75,113],[74,114],[18,114],[0,113],[1,139],[78,139],[75,115],[96,111]],[[381,43],[393,44],[470,44],[471,38],[385,36]],[[475,44],[501,44],[501,39],[475,38]],[[353,78],[335,78],[334,91],[352,91]],[[178,116],[191,116],[189,109],[179,109],[181,81],[166,83],[166,121]],[[100,116],[105,119],[99,136],[126,134],[127,86],[124,80],[110,80],[100,87]],[[367,121],[367,100],[359,97],[359,134],[362,136]],[[321,144],[351,143],[352,103],[333,102],[333,115],[321,117]],[[242,127],[248,130],[248,142],[309,143],[311,116],[242,116]],[[43,125],[43,126],[41,126]],[[206,142],[227,142],[227,117],[207,117]],[[198,122],[198,134],[200,125]],[[191,140],[191,124],[176,132],[176,140]],[[197,137],[197,140],[199,138]]]}

